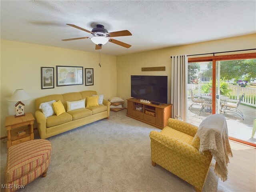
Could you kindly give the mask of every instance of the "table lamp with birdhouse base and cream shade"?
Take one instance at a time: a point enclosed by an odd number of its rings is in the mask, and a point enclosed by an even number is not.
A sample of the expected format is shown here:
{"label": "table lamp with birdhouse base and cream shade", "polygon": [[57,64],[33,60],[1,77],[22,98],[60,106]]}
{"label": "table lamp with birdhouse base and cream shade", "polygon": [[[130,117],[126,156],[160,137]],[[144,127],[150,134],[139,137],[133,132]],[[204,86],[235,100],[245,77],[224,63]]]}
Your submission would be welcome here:
{"label": "table lamp with birdhouse base and cream shade", "polygon": [[21,101],[28,100],[31,97],[28,95],[28,93],[24,89],[17,89],[12,96],[9,98],[9,102],[17,102],[15,104],[16,107],[16,115],[14,117],[20,117],[25,115],[24,113],[24,103]]}

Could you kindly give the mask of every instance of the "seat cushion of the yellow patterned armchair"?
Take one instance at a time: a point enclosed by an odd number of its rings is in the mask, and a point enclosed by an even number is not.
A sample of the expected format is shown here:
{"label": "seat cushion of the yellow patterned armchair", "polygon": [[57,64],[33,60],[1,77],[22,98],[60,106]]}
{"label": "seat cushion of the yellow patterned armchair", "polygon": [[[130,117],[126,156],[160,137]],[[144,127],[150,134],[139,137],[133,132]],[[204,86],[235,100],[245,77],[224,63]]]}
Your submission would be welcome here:
{"label": "seat cushion of the yellow patterned armchair", "polygon": [[187,135],[183,132],[180,132],[176,129],[172,129],[170,127],[165,127],[162,131],[162,134],[169,135],[172,138],[176,138],[182,142],[186,142],[188,144],[191,144],[193,137],[190,135]]}

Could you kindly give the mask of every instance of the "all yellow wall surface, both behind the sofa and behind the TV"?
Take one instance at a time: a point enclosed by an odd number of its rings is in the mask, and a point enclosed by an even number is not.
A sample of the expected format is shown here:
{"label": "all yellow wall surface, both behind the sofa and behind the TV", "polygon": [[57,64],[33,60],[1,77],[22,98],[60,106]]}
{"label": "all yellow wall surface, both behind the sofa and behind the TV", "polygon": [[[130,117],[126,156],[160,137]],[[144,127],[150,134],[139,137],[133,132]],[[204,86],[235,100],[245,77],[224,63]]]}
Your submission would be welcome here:
{"label": "all yellow wall surface, both behind the sofa and behind the TV", "polygon": [[[170,56],[256,48],[256,34],[122,56],[102,55],[101,68],[98,66],[98,53],[8,40],[1,40],[0,44],[0,137],[3,137],[6,134],[5,117],[15,113],[15,102],[8,102],[8,98],[16,89],[24,88],[32,97],[30,100],[24,101],[25,112],[32,113],[35,112],[35,99],[49,94],[96,90],[98,94],[104,94],[106,99],[111,96],[120,96],[125,100],[130,98],[131,75],[165,75],[168,76],[168,85],[170,86]],[[56,75],[56,65],[94,68],[94,86],[56,87],[55,82],[54,89],[41,90],[40,67],[55,67]],[[141,71],[142,67],[155,66],[165,66],[166,71]],[[170,103],[170,87],[168,88],[168,102]]]}

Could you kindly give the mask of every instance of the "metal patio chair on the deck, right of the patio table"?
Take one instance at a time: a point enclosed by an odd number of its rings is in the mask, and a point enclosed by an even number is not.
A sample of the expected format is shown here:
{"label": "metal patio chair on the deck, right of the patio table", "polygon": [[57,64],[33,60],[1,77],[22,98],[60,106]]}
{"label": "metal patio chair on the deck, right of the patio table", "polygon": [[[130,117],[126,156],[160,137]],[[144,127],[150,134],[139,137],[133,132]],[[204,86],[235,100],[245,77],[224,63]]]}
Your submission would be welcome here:
{"label": "metal patio chair on the deck, right of the patio table", "polygon": [[238,100],[238,102],[236,102],[236,103],[227,102],[226,100],[224,102],[222,102],[221,111],[222,111],[222,108],[223,108],[224,115],[227,112],[235,113],[235,114],[238,114],[242,118],[242,120],[244,120],[244,114],[242,113],[241,110],[238,109],[238,106],[241,103],[242,99],[244,98],[244,95],[245,95],[245,93],[242,94],[240,100]]}

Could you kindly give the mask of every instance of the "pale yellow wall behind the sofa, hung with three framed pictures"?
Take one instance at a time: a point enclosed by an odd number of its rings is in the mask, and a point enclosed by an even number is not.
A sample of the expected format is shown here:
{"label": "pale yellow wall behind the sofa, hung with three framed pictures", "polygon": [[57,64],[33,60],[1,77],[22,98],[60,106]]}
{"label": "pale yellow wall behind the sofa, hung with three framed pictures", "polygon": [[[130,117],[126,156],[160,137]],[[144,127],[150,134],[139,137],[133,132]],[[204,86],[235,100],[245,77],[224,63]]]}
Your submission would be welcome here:
{"label": "pale yellow wall behind the sofa, hung with three framed pictures", "polygon": [[[32,97],[24,101],[25,113],[35,112],[35,99],[49,94],[63,94],[96,90],[108,99],[116,96],[116,56],[102,55],[101,68],[98,53],[68,50],[35,44],[1,40],[0,115],[1,137],[6,135],[5,117],[15,114],[15,102],[8,98],[16,89],[24,88]],[[94,68],[94,86],[56,87],[56,65]],[[55,88],[41,90],[40,67],[54,67]]]}

